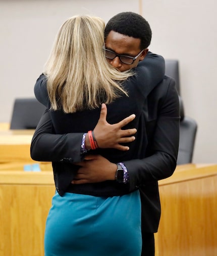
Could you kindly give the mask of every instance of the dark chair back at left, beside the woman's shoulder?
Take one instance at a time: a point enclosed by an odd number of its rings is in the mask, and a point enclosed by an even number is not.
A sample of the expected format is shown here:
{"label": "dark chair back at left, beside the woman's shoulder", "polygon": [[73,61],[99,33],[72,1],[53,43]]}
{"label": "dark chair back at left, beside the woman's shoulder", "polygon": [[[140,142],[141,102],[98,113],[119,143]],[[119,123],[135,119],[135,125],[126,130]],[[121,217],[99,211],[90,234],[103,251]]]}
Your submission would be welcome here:
{"label": "dark chair back at left, beside the woman's shoulder", "polygon": [[35,129],[44,110],[35,98],[15,99],[10,129]]}

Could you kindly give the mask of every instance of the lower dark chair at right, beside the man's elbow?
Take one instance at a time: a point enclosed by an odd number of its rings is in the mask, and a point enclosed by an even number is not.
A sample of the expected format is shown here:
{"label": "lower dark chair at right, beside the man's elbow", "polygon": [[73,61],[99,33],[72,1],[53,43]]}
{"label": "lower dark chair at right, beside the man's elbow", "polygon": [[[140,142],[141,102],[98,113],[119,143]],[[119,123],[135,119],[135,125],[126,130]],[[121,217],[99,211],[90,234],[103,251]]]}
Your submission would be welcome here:
{"label": "lower dark chair at right, beside the man's elbow", "polygon": [[181,97],[179,97],[179,102],[181,119],[177,164],[185,164],[192,162],[197,123],[193,118],[185,116]]}

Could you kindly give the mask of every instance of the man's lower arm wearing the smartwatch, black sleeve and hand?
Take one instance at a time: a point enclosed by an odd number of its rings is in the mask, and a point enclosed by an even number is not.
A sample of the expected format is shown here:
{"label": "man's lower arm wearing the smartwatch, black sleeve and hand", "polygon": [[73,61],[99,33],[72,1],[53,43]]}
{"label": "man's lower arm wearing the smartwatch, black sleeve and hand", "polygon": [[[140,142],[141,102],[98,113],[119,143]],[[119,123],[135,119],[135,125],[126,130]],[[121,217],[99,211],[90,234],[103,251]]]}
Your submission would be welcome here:
{"label": "man's lower arm wearing the smartwatch, black sleeve and hand", "polygon": [[[143,159],[124,161],[129,173],[130,190],[148,181],[165,179],[171,176],[176,168],[180,114],[179,99],[173,79],[170,81],[163,101],[149,149],[152,153]],[[91,160],[77,164],[81,167],[73,184],[101,182],[115,178],[115,166],[102,156],[93,156]],[[103,166],[103,173],[101,166]]]}

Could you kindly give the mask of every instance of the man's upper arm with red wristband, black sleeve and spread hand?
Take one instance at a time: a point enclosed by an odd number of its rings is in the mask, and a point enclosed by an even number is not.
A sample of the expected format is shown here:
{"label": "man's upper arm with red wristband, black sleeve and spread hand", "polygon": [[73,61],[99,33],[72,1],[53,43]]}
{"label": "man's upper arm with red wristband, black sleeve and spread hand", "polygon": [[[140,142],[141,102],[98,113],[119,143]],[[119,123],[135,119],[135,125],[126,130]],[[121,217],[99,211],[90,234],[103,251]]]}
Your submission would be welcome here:
{"label": "man's upper arm with red wristband, black sleeve and spread hand", "polygon": [[[110,124],[106,121],[106,114],[106,105],[102,104],[99,120],[93,130],[98,147],[128,150],[129,147],[122,143],[135,140],[133,135],[136,133],[136,129],[122,130],[122,127],[131,122],[135,115],[130,115],[118,123]],[[31,157],[36,161],[82,161],[84,157],[84,154],[81,154],[82,137],[83,133],[53,134],[50,113],[45,110],[32,138]],[[86,136],[85,147],[90,149],[88,136]]]}

